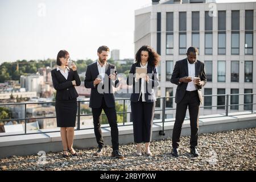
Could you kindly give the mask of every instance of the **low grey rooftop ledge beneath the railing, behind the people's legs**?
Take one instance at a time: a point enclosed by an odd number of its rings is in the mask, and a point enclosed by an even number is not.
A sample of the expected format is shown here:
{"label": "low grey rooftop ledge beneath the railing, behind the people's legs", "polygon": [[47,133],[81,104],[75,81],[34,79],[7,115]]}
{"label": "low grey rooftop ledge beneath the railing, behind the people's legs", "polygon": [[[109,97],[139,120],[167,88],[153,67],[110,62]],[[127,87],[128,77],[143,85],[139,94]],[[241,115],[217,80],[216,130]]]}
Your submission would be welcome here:
{"label": "low grey rooftop ledge beneath the railing, behind the people's legs", "polygon": [[[152,126],[152,140],[163,138],[171,138],[172,129],[175,119],[166,119],[164,122],[165,135],[159,135],[159,131],[163,130],[162,120],[154,120]],[[126,126],[130,125],[130,126]],[[111,145],[110,127],[102,125],[102,136],[105,143]],[[134,142],[132,123],[118,123],[119,143],[127,144]],[[199,119],[199,133],[212,133],[217,131],[226,131],[234,129],[243,129],[256,127],[256,111],[243,111],[239,113],[203,115]],[[44,130],[46,131],[46,130]],[[56,131],[56,129],[47,130]],[[185,118],[181,135],[190,135],[189,118]],[[75,148],[86,148],[97,146],[96,138],[93,129],[75,131],[74,144]],[[26,150],[23,148],[26,147]],[[17,135],[10,137],[0,137],[0,158],[5,158],[11,155],[31,155],[37,154],[38,151],[56,152],[62,150],[60,132],[45,133],[45,134],[29,134]]]}

